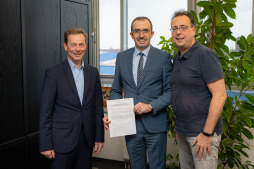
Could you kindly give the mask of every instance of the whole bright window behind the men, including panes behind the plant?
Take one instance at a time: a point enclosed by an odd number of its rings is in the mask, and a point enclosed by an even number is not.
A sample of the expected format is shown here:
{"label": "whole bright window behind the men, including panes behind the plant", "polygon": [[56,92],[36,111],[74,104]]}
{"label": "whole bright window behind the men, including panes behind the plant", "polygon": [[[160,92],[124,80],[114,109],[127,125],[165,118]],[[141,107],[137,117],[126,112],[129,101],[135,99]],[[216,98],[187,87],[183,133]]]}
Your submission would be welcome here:
{"label": "whole bright window behind the men, including panes behind the plant", "polygon": [[[153,30],[155,32],[151,44],[154,47],[160,48],[157,44],[160,42],[160,36],[169,38],[171,16],[174,11],[179,9],[195,8],[192,3],[195,0],[160,0],[155,3],[154,0],[123,0],[128,4],[128,28],[126,28],[128,44],[127,48],[134,47],[134,42],[131,39],[130,25],[133,19],[137,16],[147,16],[153,23]],[[199,0],[198,0],[199,1]],[[100,74],[101,75],[114,75],[115,59],[117,53],[120,51],[121,44],[121,26],[120,26],[120,13],[122,8],[120,5],[121,0],[99,0],[99,13],[100,13]],[[253,0],[245,0],[244,3],[237,1],[236,20],[229,18],[229,21],[234,24],[231,28],[233,36],[238,38],[241,35],[247,36],[252,33],[253,22]],[[127,24],[127,23],[126,23]],[[125,33],[126,34],[126,33]],[[127,38],[126,38],[127,39]],[[125,42],[124,42],[125,43]],[[229,49],[235,50],[236,44],[233,41],[227,41]]]}

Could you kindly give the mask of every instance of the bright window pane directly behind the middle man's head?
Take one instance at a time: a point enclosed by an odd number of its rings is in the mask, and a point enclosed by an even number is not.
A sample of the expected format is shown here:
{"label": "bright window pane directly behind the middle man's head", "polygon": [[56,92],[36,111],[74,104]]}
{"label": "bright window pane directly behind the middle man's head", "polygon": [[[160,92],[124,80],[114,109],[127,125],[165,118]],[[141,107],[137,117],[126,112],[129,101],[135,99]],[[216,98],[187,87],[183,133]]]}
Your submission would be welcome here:
{"label": "bright window pane directly behind the middle man's head", "polygon": [[[131,22],[138,16],[146,16],[153,23],[154,36],[151,44],[160,48],[158,43],[160,36],[170,37],[171,16],[179,9],[187,10],[187,0],[169,1],[169,0],[128,0],[128,32],[131,31]],[[134,41],[128,37],[128,48],[134,47]]]}

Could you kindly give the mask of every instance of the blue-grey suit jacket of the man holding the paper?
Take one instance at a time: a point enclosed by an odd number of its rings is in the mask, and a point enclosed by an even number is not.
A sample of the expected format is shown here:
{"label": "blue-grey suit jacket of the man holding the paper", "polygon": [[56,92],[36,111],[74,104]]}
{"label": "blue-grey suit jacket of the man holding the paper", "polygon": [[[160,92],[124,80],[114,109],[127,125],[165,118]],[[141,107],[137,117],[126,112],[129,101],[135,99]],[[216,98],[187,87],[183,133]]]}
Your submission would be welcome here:
{"label": "blue-grey suit jacket of the man holding the paper", "polygon": [[110,99],[120,99],[122,89],[125,98],[138,102],[150,103],[153,111],[142,114],[142,122],[147,131],[158,133],[167,130],[166,107],[171,104],[171,86],[169,83],[172,71],[170,54],[151,46],[140,87],[137,88],[132,72],[134,48],[117,55],[115,78],[112,84]]}

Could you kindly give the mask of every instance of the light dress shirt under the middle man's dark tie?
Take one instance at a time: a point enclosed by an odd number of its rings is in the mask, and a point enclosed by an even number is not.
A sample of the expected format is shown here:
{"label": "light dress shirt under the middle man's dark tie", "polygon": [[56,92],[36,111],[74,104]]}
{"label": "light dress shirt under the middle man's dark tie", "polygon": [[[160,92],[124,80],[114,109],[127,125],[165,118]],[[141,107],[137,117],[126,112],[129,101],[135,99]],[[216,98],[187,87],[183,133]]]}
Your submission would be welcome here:
{"label": "light dress shirt under the middle man's dark tie", "polygon": [[[150,50],[150,46],[142,51],[142,53],[145,54],[143,56],[144,57],[143,68],[145,67],[146,59],[147,59],[149,50]],[[139,53],[140,53],[140,51],[135,47],[134,53],[133,53],[133,61],[132,61],[132,72],[133,72],[133,78],[134,78],[134,81],[135,81],[136,85],[137,85],[138,62],[139,62],[139,59],[140,59]]]}

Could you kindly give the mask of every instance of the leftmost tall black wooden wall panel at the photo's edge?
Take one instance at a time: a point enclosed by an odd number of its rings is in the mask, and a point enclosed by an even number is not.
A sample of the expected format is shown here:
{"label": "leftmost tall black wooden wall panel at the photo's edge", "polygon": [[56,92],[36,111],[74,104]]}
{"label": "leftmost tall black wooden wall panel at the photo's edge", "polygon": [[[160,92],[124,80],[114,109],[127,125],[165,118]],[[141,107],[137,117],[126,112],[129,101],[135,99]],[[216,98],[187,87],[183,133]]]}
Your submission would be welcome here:
{"label": "leftmost tall black wooden wall panel at the photo's edge", "polygon": [[0,144],[24,135],[20,2],[0,1]]}

